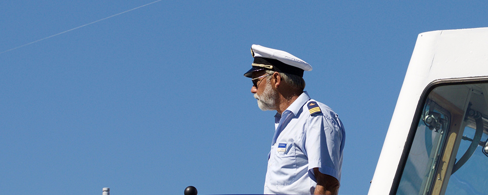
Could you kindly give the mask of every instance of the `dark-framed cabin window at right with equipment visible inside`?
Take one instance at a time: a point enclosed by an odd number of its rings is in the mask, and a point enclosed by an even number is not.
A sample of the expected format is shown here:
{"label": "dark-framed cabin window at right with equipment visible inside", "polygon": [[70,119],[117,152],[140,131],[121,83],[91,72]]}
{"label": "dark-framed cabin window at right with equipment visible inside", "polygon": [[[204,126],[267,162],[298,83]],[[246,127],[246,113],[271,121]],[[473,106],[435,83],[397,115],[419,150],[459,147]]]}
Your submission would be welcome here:
{"label": "dark-framed cabin window at right with equipment visible inside", "polygon": [[488,83],[430,90],[397,195],[488,194]]}

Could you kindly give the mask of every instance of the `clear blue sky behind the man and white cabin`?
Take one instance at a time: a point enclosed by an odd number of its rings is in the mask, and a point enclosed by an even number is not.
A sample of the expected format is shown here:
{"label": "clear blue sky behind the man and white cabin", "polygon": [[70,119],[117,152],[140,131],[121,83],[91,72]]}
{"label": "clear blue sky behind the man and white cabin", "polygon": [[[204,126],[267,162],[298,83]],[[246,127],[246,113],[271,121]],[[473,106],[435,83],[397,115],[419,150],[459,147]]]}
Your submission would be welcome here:
{"label": "clear blue sky behind the man and white cabin", "polygon": [[101,20],[151,2],[0,2],[0,194],[262,194],[275,112],[243,77],[251,44],[312,65],[305,90],[346,127],[340,194],[366,194],[417,35],[488,26],[482,0],[163,0]]}

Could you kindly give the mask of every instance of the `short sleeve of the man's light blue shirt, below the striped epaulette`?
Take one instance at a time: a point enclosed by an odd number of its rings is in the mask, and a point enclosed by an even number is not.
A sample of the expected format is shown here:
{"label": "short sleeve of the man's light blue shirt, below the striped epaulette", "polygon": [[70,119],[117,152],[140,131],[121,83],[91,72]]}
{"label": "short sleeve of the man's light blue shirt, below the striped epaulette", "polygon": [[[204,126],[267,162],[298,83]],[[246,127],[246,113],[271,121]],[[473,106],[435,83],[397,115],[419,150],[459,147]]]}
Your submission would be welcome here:
{"label": "short sleeve of the man's light blue shirt, below the striped epaulette", "polygon": [[308,157],[308,176],[317,181],[313,168],[341,181],[342,131],[331,119],[323,115],[311,116],[305,127],[305,153]]}

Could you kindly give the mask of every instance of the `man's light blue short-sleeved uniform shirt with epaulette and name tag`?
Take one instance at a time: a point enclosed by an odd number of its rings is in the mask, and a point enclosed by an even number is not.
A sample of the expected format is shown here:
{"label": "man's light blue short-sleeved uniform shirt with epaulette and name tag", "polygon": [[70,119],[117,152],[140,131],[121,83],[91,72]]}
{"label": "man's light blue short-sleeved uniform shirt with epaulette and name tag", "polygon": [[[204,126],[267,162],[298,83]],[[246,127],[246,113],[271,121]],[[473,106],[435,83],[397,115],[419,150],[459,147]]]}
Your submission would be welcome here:
{"label": "man's light blue short-sleeved uniform shirt with epaulette and name tag", "polygon": [[[309,109],[308,104],[315,108]],[[313,194],[317,186],[313,168],[340,182],[345,138],[338,115],[302,93],[275,116],[264,194]]]}

